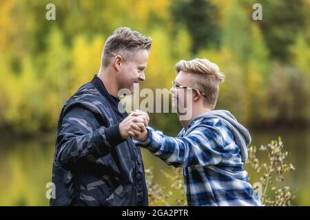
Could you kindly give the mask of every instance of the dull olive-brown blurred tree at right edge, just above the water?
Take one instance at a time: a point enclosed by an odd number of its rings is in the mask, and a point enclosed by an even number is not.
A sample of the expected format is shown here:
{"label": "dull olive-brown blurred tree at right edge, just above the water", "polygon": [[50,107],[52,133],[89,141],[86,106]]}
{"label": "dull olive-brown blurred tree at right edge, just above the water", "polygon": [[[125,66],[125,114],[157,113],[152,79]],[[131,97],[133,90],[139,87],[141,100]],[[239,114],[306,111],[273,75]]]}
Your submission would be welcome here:
{"label": "dull olive-brown blurred tree at right edge, just above the water", "polygon": [[[269,114],[278,125],[307,124],[307,82],[298,69],[274,63],[268,91]],[[275,124],[273,124],[275,125]]]}

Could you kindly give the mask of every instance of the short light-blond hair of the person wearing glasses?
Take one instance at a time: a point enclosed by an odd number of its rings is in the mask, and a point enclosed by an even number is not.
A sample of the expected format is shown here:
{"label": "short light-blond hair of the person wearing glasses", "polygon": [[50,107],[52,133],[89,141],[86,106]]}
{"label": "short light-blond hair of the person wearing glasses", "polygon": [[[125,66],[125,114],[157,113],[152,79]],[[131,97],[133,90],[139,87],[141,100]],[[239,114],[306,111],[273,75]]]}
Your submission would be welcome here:
{"label": "short light-blond hair of the person wearing glasses", "polygon": [[193,88],[203,91],[207,96],[203,96],[203,103],[211,110],[215,109],[218,100],[219,85],[225,80],[225,75],[220,72],[220,68],[215,63],[207,59],[195,58],[192,61],[178,61],[176,63],[176,73],[180,71],[191,74]]}

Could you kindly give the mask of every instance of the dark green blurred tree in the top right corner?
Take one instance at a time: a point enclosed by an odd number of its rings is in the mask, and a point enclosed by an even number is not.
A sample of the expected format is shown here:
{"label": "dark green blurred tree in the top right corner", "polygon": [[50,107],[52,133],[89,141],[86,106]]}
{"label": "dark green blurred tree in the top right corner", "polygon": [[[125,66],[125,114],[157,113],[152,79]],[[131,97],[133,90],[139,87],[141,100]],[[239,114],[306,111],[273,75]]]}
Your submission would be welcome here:
{"label": "dark green blurred tree in the top right corner", "polygon": [[280,61],[289,58],[289,46],[296,33],[304,30],[309,19],[309,3],[303,0],[260,1],[263,18],[259,22],[270,54]]}

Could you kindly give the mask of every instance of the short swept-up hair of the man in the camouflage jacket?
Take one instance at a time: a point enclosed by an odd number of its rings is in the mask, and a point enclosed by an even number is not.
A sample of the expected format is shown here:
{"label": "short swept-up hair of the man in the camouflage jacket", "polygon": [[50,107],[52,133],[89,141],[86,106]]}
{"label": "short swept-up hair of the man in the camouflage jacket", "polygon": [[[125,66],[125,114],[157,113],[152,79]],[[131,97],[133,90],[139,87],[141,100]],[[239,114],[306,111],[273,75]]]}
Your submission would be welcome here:
{"label": "short swept-up hair of the man in the camouflage jacket", "polygon": [[136,52],[149,50],[152,39],[130,28],[117,28],[114,34],[107,38],[101,56],[101,65],[107,67],[112,57],[121,55],[124,60],[130,60]]}

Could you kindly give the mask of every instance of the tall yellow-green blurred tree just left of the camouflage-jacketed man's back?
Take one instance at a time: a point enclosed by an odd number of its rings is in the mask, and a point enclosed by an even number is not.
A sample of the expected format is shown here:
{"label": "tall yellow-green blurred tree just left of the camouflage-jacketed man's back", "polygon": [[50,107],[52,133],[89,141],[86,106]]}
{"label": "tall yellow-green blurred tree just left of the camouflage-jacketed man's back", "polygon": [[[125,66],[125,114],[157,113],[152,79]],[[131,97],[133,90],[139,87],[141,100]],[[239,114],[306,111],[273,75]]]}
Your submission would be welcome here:
{"label": "tall yellow-green blurred tree just left of the camouflage-jacketed man's back", "polygon": [[[56,25],[50,28],[45,39],[46,51],[38,58],[37,78],[39,89],[48,96],[44,98],[45,116],[43,125],[45,129],[56,126],[60,109],[70,96],[69,62],[70,54],[63,40],[63,34]],[[41,95],[42,96],[42,95]],[[43,98],[43,97],[42,97]],[[50,111],[53,109],[53,111]]]}

